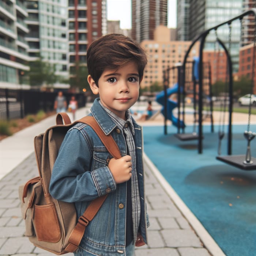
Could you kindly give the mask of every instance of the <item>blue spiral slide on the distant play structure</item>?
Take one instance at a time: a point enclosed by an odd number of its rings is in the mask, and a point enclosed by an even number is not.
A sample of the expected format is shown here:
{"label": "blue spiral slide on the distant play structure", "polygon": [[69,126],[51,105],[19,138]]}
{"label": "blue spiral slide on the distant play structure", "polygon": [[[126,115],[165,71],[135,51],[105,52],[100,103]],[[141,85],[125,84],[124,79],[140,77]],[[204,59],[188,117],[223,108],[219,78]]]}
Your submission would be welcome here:
{"label": "blue spiral slide on the distant play structure", "polygon": [[[174,84],[173,87],[167,89],[167,119],[172,121],[172,124],[176,127],[178,126],[178,118],[173,115],[173,109],[177,107],[177,102],[172,101],[169,99],[169,96],[173,93],[178,92],[178,83]],[[165,105],[165,91],[161,91],[159,94],[157,94],[156,100],[159,104],[162,106]],[[164,107],[161,110],[161,113],[164,115]],[[185,124],[182,120],[180,120],[180,128],[184,128]]]}

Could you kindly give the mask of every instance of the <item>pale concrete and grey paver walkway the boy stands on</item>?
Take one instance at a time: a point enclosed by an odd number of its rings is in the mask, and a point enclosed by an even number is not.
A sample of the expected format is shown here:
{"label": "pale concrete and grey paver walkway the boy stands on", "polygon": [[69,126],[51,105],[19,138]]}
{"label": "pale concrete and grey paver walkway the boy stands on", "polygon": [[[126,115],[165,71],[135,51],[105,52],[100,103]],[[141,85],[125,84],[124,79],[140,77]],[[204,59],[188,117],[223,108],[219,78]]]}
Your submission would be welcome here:
{"label": "pale concrete and grey paver walkway the boy stands on", "polygon": [[[87,113],[89,108],[79,109],[76,118]],[[0,255],[53,255],[35,248],[23,236],[18,187],[38,176],[33,138],[54,124],[55,116],[49,117],[0,141]],[[149,245],[136,248],[135,256],[224,255],[146,155],[144,162],[151,225]]]}

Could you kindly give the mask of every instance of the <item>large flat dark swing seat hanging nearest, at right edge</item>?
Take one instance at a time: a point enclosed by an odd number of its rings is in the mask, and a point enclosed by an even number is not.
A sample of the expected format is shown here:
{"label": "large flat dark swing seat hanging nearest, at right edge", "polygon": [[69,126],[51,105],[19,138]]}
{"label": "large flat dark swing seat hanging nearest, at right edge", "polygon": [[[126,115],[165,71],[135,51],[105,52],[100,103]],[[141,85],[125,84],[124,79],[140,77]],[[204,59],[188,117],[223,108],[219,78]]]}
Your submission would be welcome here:
{"label": "large flat dark swing seat hanging nearest, at right edge", "polygon": [[251,157],[251,164],[245,164],[245,155],[225,155],[216,157],[217,160],[243,170],[256,170],[256,158]]}

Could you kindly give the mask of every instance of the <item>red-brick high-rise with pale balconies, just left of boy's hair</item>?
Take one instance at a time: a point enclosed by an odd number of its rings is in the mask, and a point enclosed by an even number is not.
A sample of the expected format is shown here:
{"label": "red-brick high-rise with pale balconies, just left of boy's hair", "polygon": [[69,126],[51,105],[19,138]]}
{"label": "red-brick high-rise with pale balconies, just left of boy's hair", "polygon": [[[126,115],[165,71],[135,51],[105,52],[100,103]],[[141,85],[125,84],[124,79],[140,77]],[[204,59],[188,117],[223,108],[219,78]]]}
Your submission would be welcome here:
{"label": "red-brick high-rise with pale balconies, just left of boy's hair", "polygon": [[[106,1],[68,0],[68,61],[69,72],[86,66],[89,45],[107,33]],[[82,68],[83,69],[83,68]]]}

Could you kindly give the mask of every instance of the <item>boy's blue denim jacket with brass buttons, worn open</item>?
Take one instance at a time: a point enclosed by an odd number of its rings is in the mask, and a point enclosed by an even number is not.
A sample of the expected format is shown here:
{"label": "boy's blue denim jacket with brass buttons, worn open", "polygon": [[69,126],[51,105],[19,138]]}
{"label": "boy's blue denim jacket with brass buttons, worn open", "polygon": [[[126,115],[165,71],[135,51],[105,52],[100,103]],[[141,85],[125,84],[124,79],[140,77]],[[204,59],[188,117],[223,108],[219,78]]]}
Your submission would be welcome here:
{"label": "boy's blue denim jacket with brass buttons, worn open", "polygon": [[[106,135],[111,134],[121,155],[127,155],[123,131],[95,99],[91,114]],[[140,193],[141,215],[139,232],[147,243],[147,227],[142,128],[133,120],[135,128],[136,170]],[[65,202],[74,202],[78,218],[90,201],[108,194],[105,202],[86,227],[80,246],[95,255],[125,255],[126,182],[116,184],[108,168],[112,158],[93,129],[78,123],[66,134],[53,167],[50,181],[51,195]]]}

